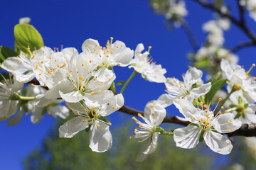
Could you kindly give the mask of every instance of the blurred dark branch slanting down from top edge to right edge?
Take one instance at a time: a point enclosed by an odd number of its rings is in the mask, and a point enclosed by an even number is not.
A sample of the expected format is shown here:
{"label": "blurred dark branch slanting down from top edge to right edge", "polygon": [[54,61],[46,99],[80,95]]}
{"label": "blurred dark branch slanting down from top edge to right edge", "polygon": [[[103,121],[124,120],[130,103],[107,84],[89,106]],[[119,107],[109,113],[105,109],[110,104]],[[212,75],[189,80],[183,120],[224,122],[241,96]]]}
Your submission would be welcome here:
{"label": "blurred dark branch slanting down from top edge to right edge", "polygon": [[203,0],[193,0],[198,2],[198,4],[201,4],[202,6],[215,11],[217,13],[219,13],[221,16],[224,16],[226,18],[229,18],[230,21],[232,21],[235,26],[238,26],[238,28],[240,28],[240,30],[242,30],[250,39],[252,39],[253,42],[255,42],[256,44],[256,36],[254,33],[252,33],[247,26],[245,26],[245,24],[242,23],[242,21],[238,21],[236,18],[234,18],[233,16],[231,16],[229,13],[223,13],[223,11],[220,10],[220,8],[212,5],[212,4],[208,4],[208,2],[203,1]]}

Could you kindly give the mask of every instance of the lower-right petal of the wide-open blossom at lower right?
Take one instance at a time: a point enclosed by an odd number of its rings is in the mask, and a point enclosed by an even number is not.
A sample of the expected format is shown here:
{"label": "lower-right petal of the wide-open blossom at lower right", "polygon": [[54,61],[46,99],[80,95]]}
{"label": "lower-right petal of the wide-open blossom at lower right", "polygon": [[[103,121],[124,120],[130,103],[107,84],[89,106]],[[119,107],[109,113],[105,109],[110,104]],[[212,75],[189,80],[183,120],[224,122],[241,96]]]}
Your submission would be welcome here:
{"label": "lower-right petal of the wide-open blossom at lower right", "polygon": [[225,137],[217,132],[207,130],[203,134],[203,139],[210,149],[219,154],[229,154],[233,148],[230,140],[228,140],[228,137]]}

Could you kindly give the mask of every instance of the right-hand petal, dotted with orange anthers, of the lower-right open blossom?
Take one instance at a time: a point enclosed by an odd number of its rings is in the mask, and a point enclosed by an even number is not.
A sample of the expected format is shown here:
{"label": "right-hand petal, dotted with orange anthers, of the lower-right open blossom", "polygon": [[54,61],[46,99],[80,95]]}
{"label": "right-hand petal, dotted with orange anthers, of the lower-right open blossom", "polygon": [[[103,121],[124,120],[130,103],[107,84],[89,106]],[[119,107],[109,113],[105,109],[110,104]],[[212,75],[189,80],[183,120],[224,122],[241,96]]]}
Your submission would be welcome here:
{"label": "right-hand petal, dotted with orange anthers, of the lower-right open blossom", "polygon": [[[230,124],[229,124],[230,123]],[[232,113],[218,115],[213,120],[213,128],[221,133],[233,132],[241,127],[240,120],[235,119]]]}

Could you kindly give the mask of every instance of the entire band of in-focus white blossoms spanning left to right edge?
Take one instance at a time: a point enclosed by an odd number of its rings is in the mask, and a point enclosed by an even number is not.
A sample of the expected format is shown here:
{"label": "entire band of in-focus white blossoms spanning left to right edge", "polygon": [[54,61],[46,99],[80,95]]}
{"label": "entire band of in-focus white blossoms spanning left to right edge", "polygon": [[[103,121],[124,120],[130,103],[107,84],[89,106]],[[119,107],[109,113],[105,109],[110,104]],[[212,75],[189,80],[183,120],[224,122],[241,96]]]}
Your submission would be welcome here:
{"label": "entire band of in-focus white blossoms spanning left to right edge", "polygon": [[[205,26],[210,31],[208,27]],[[139,162],[156,150],[159,135],[174,135],[176,146],[186,149],[204,140],[214,152],[229,154],[233,145],[225,134],[238,130],[242,123],[256,123],[256,78],[250,76],[255,64],[245,72],[240,65],[233,66],[222,59],[219,66],[222,73],[205,83],[203,72],[196,67],[182,74],[182,80],[166,78],[166,69],[149,57],[151,47],[143,52],[144,45],[139,44],[131,50],[124,42],[113,42],[113,38],[105,47],[97,40],[87,39],[80,53],[73,47],[60,51],[50,47],[33,51],[28,47],[27,50],[8,57],[1,64],[1,68],[9,72],[9,78],[1,75],[4,81],[0,83],[0,120],[9,119],[8,125],[16,125],[24,111],[31,113],[33,123],[38,123],[47,111],[60,118],[68,118],[69,113],[73,113],[73,118],[60,126],[59,137],[70,138],[84,130],[89,132],[92,151],[106,152],[112,147],[112,123],[105,117],[124,106],[122,93],[139,73],[150,82],[166,86],[165,94],[146,103],[144,112],[138,113],[138,119],[144,123],[132,118],[139,128],[135,128],[130,138],[144,142],[137,157]],[[114,87],[115,66],[134,69],[119,93]],[[228,84],[222,89],[228,95],[224,100],[218,98],[215,104],[210,100],[222,87],[219,84]],[[68,107],[61,104],[63,101]],[[189,124],[167,132],[159,125],[166,118],[166,107],[172,104]]]}

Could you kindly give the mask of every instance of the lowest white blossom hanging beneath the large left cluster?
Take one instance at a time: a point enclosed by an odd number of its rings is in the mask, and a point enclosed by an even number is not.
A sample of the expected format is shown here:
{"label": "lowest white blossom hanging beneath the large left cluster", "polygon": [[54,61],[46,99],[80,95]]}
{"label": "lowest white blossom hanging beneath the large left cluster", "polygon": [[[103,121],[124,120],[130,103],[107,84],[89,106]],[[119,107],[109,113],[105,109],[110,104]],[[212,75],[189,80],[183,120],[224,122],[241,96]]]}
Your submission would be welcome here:
{"label": "lowest white blossom hanging beneath the large left cluster", "polygon": [[124,98],[122,94],[114,96],[112,91],[105,91],[102,98],[102,103],[97,106],[88,106],[85,103],[67,103],[77,116],[60,126],[59,136],[70,138],[81,130],[90,128],[89,146],[92,151],[105,152],[110,149],[112,146],[112,135],[109,130],[111,123],[105,122],[103,116],[118,111],[124,105]]}

